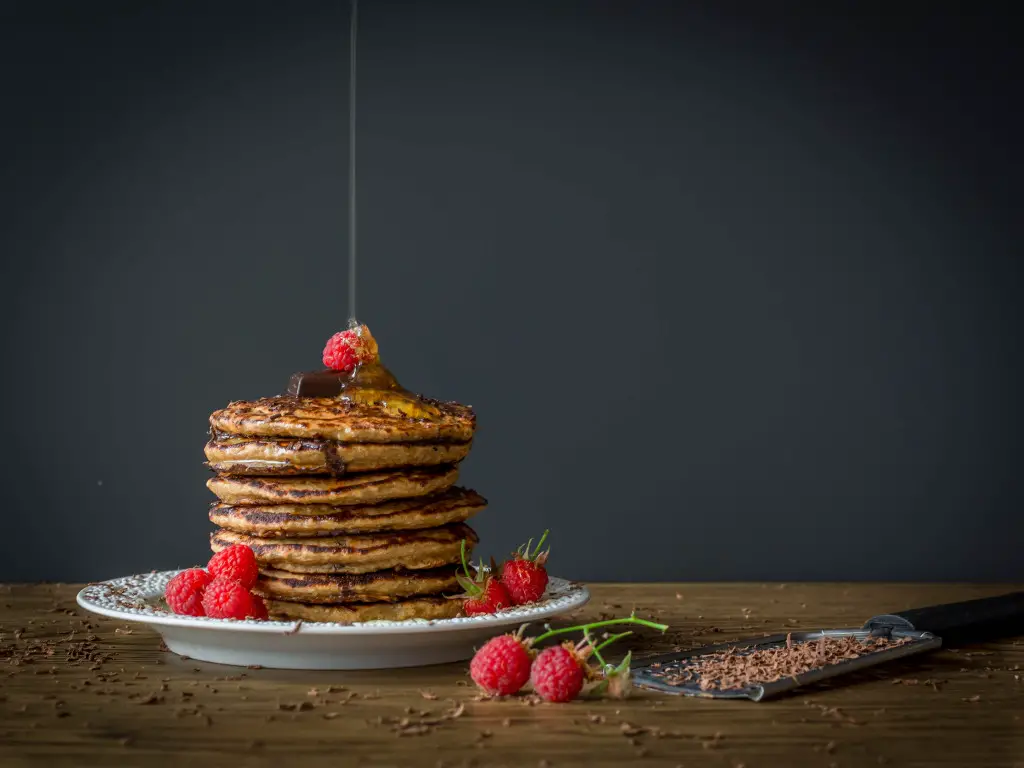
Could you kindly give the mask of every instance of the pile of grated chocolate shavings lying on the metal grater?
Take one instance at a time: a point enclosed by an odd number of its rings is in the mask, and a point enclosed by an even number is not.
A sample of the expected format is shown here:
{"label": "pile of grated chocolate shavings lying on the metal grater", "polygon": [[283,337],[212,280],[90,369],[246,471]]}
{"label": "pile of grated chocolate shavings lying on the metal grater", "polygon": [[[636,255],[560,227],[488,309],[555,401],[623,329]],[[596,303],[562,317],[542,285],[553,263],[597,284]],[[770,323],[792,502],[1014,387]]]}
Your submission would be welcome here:
{"label": "pile of grated chocolate shavings lying on the metal grater", "polygon": [[[859,658],[885,648],[894,648],[910,642],[907,638],[826,637],[817,641],[797,643],[786,635],[785,645],[746,651],[729,648],[684,659],[680,667],[666,669],[662,679],[669,685],[697,683],[700,690],[737,690],[751,685],[773,683],[783,678],[797,677],[811,670]],[[682,666],[685,665],[685,666]]]}

